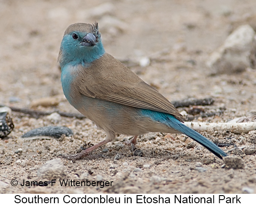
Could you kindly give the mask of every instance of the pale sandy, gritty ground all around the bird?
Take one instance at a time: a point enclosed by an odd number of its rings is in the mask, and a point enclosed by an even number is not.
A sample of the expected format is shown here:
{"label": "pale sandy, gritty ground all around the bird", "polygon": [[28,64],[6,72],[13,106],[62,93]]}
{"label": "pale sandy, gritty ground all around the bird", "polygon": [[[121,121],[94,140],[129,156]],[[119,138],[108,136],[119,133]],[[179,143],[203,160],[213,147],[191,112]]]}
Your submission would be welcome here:
{"label": "pale sandy, gritty ground all around the bird", "polygon": [[[96,20],[106,52],[129,62],[150,57],[150,65],[133,63],[130,68],[168,100],[211,96],[215,103],[205,109],[224,110],[208,118],[197,115],[194,121],[227,122],[247,116],[256,111],[256,70],[210,76],[205,62],[237,26],[249,23],[256,28],[255,8],[255,0],[0,0],[0,103],[30,108],[33,100],[51,96],[57,106],[35,109],[75,113],[62,94],[59,46],[71,23]],[[113,181],[112,187],[22,187],[23,180],[49,181],[37,176],[46,161],[77,153],[85,143],[96,144],[105,133],[88,119],[36,119],[16,112],[12,118],[13,132],[0,140],[0,193],[256,193],[255,153],[233,153],[243,157],[245,167],[228,169],[199,144],[187,146],[190,140],[184,135],[166,133],[139,136],[142,156],[123,146],[127,136],[121,135],[79,161],[61,159],[64,170],[58,178]],[[68,126],[74,136],[21,138],[31,129],[50,125]],[[256,137],[225,130],[202,134],[214,142],[234,143],[240,150],[253,147]],[[117,154],[119,159],[114,159]],[[17,186],[10,185],[12,179]]]}

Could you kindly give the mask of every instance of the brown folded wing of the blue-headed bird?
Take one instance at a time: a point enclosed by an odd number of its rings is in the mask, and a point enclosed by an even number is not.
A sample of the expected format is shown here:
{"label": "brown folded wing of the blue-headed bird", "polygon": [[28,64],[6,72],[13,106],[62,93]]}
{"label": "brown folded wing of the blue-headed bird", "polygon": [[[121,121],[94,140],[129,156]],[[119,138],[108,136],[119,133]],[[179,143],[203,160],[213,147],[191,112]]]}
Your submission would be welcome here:
{"label": "brown folded wing of the blue-headed bird", "polygon": [[78,78],[76,86],[82,95],[169,113],[183,122],[182,115],[165,97],[109,54],[83,68]]}

